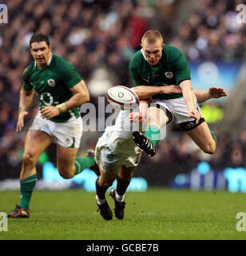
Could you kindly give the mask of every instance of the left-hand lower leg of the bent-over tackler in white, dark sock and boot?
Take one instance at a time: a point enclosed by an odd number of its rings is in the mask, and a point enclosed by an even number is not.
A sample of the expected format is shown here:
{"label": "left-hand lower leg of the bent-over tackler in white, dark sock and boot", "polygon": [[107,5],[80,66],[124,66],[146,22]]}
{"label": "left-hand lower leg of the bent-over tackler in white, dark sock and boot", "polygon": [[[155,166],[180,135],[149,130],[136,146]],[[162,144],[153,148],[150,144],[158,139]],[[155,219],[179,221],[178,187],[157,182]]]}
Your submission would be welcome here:
{"label": "left-hand lower leg of the bent-over tackler in white, dark sock and boot", "polygon": [[105,198],[105,193],[108,190],[109,186],[112,186],[113,181],[116,178],[116,174],[107,174],[100,167],[99,170],[100,176],[97,178],[96,181],[96,202],[101,217],[105,220],[111,220],[113,218],[113,213]]}

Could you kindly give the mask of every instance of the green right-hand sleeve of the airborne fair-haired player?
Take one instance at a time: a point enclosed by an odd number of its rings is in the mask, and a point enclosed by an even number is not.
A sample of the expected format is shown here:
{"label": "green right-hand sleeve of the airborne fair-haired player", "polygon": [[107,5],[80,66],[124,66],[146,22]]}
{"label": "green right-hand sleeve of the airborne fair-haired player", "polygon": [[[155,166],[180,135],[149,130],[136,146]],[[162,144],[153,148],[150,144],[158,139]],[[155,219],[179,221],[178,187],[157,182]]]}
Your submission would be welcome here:
{"label": "green right-hand sleeve of the airborne fair-haired player", "polygon": [[175,62],[175,66],[177,70],[177,85],[179,85],[182,81],[191,79],[188,62],[185,55],[181,52],[179,58],[177,58],[177,61]]}

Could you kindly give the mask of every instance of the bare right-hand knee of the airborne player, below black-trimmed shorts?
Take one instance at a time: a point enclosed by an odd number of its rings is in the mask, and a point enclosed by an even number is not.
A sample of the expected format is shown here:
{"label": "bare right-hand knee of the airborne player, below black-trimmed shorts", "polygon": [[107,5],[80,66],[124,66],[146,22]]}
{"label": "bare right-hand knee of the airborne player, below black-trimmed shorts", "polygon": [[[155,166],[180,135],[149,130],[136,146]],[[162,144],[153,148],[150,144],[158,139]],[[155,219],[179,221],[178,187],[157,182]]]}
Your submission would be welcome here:
{"label": "bare right-hand knee of the airborne player, below black-trimmed shorts", "polygon": [[209,130],[208,124],[202,122],[192,130],[186,131],[186,134],[200,147],[204,153],[213,154],[216,150],[216,136]]}

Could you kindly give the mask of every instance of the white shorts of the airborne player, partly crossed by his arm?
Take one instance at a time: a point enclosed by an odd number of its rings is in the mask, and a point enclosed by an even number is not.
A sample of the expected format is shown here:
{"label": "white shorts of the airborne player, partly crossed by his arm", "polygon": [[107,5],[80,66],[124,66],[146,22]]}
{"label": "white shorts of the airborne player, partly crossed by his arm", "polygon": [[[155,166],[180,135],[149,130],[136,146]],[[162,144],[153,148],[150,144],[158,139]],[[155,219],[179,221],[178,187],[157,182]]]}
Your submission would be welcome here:
{"label": "white shorts of the airborne player, partly crossed by his arm", "polygon": [[[197,102],[196,95],[194,95],[194,102],[196,110],[200,112],[200,118],[203,118],[203,115],[200,110],[200,106]],[[188,115],[188,108],[185,103],[185,99],[182,98],[173,98],[173,99],[153,99],[152,103],[159,104],[165,109],[169,110],[173,115],[173,120],[175,123],[180,124],[182,122],[194,121],[194,118],[190,118]]]}

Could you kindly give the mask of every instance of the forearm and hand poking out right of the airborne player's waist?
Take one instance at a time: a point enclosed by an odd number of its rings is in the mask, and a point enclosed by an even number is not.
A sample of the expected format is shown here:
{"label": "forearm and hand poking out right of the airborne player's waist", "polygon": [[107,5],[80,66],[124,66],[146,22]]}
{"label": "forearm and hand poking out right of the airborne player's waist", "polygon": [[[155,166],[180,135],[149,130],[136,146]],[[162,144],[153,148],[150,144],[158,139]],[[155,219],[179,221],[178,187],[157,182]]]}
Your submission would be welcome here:
{"label": "forearm and hand poking out right of the airborne player's waist", "polygon": [[204,90],[193,90],[196,94],[197,102],[203,103],[208,101],[211,98],[221,98],[227,96],[226,92],[222,87],[212,86],[208,91]]}

